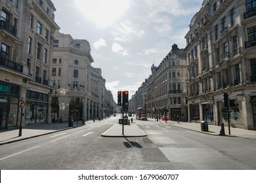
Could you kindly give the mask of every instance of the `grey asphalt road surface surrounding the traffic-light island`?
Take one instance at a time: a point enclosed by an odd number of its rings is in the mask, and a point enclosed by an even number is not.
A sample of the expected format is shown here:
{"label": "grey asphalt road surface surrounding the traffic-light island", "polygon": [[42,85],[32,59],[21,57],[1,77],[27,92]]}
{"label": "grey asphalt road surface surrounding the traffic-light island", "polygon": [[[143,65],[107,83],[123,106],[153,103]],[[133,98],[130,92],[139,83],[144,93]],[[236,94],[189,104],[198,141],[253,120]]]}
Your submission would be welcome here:
{"label": "grey asphalt road surface surrounding the traffic-light island", "polygon": [[256,169],[253,139],[136,122],[147,137],[101,137],[116,118],[0,147],[0,169]]}

